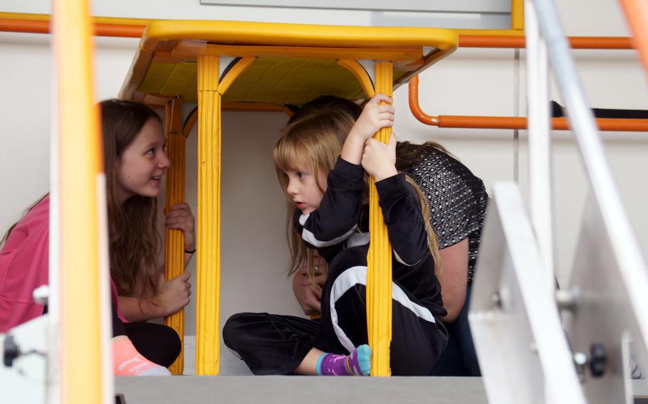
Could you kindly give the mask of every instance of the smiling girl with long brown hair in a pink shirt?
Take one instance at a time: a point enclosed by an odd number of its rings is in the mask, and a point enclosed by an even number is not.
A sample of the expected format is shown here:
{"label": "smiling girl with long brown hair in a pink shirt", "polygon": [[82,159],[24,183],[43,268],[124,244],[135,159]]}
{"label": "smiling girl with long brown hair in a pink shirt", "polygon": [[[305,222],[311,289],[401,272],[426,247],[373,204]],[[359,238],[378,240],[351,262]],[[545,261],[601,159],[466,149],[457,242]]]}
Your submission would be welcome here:
{"label": "smiling girl with long brown hair in a pink shirt", "polygon": [[[160,117],[135,102],[101,103],[108,196],[115,375],[168,375],[180,350],[173,329],[145,321],[189,302],[189,274],[167,282],[157,253],[157,199],[169,166]],[[172,206],[165,224],[185,235],[185,264],[195,249],[189,206]],[[0,250],[0,332],[43,314],[31,292],[48,283],[49,196],[41,198],[4,236]],[[112,282],[111,282],[112,283]],[[116,287],[115,287],[116,285]],[[18,287],[19,286],[19,287]],[[117,291],[119,297],[117,297]]]}

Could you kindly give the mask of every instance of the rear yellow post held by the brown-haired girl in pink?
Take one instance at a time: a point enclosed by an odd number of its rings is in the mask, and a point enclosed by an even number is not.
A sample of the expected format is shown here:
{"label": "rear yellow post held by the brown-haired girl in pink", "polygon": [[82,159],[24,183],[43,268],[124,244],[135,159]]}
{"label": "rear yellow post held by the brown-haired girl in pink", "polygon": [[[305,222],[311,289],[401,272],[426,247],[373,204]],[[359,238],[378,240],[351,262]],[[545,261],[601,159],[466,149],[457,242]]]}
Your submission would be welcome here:
{"label": "rear yellow post held by the brown-haired girl in pink", "polygon": [[[171,166],[167,169],[167,201],[166,213],[169,213],[171,206],[184,202],[184,160],[186,138],[182,134],[182,100],[174,98],[166,106],[167,115],[167,156]],[[167,280],[184,272],[184,233],[181,230],[168,229],[164,233],[164,273]],[[180,341],[182,349],[178,358],[169,366],[169,371],[174,375],[182,375],[184,366],[184,309],[175,312],[164,319],[164,324],[174,329]]]}

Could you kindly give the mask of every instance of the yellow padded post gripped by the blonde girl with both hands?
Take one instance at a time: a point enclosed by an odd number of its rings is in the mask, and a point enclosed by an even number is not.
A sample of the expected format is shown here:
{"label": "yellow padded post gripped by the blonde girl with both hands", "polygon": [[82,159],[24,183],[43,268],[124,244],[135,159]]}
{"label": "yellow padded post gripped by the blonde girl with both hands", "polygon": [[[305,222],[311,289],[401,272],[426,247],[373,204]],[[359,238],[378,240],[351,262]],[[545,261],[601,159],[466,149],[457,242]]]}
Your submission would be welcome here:
{"label": "yellow padded post gripped by the blonde girl with both hands", "polygon": [[[376,92],[390,97],[393,90],[391,62],[375,64]],[[392,128],[380,129],[375,139],[387,143]],[[367,253],[367,330],[372,349],[371,376],[391,376],[390,343],[392,341],[392,248],[387,226],[378,205],[373,176],[369,191],[369,232],[371,243]]]}

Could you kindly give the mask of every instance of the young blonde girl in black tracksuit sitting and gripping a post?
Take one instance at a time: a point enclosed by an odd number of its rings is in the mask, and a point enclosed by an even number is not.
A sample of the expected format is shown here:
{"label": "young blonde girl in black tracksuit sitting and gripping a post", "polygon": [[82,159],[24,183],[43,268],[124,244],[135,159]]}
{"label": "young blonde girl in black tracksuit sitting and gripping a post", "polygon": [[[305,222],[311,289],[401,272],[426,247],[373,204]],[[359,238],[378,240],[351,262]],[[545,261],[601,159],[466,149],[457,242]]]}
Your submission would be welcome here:
{"label": "young blonde girl in black tracksuit sitting and gripping a post", "polygon": [[436,239],[424,219],[422,198],[395,169],[395,139],[387,145],[371,139],[393,122],[393,108],[382,101],[391,99],[373,97],[357,122],[345,111],[315,109],[288,124],[276,143],[274,158],[296,229],[291,271],[301,262],[314,269],[305,248],[317,249],[329,268],[321,319],[242,313],[227,321],[225,344],[255,374],[369,373],[365,171],[377,180],[394,249],[392,374],[427,375],[446,346]]}

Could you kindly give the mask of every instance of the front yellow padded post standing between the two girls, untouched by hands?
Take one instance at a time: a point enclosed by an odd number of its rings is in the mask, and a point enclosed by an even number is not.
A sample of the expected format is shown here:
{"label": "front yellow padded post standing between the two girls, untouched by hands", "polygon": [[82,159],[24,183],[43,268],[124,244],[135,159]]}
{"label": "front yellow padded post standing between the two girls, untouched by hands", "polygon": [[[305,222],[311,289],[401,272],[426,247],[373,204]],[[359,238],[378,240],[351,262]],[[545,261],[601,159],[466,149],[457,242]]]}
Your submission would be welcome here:
{"label": "front yellow padded post standing between the two girls, untouched by hands", "polygon": [[219,372],[221,291],[221,95],[219,58],[198,57],[196,374]]}

